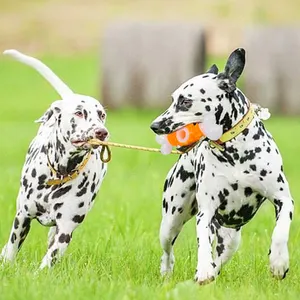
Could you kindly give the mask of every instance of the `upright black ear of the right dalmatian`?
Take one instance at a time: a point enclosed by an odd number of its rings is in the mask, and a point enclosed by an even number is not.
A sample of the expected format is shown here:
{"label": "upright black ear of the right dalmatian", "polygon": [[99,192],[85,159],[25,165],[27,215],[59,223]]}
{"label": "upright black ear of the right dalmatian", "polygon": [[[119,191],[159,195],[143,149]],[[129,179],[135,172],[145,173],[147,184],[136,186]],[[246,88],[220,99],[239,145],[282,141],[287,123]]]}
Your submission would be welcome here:
{"label": "upright black ear of the right dalmatian", "polygon": [[235,84],[244,70],[245,53],[243,48],[234,50],[226,62],[224,72],[218,75],[220,79],[218,86],[227,93],[231,93],[236,89]]}

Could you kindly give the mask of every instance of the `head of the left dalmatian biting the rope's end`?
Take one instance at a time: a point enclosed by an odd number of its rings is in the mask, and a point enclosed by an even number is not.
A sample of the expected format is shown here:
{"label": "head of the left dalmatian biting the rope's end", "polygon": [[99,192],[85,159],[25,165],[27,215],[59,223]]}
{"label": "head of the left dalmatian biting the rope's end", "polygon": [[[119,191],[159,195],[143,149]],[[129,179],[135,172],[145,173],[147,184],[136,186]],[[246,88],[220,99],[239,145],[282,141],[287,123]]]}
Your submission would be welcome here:
{"label": "head of the left dalmatian biting the rope's end", "polygon": [[68,100],[58,100],[36,122],[43,127],[54,127],[64,143],[76,148],[91,147],[87,142],[96,138],[105,141],[109,137],[105,127],[106,113],[94,98],[74,94]]}

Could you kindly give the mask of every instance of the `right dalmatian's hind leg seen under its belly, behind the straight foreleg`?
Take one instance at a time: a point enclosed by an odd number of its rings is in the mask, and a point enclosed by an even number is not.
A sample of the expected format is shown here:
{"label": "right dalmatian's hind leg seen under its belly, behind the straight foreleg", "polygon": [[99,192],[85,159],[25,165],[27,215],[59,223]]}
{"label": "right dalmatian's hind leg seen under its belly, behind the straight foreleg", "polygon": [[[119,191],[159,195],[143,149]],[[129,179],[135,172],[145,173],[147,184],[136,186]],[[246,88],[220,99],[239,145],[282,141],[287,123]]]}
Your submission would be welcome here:
{"label": "right dalmatian's hind leg seen under its belly, behind the straight foreleg", "polygon": [[216,229],[215,259],[216,271],[226,264],[237,251],[241,241],[241,228],[226,228],[218,226]]}

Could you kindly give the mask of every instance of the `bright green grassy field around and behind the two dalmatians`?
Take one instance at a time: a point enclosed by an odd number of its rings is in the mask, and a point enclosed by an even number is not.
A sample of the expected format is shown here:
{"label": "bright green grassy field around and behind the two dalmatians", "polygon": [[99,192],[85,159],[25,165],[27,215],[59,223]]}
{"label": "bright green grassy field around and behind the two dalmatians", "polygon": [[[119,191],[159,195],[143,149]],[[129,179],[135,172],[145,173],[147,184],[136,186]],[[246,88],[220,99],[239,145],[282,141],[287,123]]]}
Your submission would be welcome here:
{"label": "bright green grassy field around and behind the two dalmatians", "polygon": [[[97,60],[45,57],[44,61],[77,92],[97,96]],[[0,60],[0,246],[8,238],[18,181],[27,146],[37,131],[33,120],[56,100],[35,71],[9,59]],[[256,99],[259,102],[259,99]],[[111,140],[155,146],[149,130],[157,111],[108,111]],[[276,281],[268,267],[274,209],[265,203],[243,231],[242,245],[217,281],[192,282],[196,267],[195,224],[186,225],[175,247],[171,279],[159,275],[158,230],[161,192],[176,156],[113,149],[108,175],[94,208],[64,256],[52,270],[36,273],[46,251],[47,228],[33,223],[12,266],[0,267],[0,299],[299,299],[300,142],[292,134],[300,121],[273,117],[266,122],[284,158],[296,211],[290,234],[290,272]]]}

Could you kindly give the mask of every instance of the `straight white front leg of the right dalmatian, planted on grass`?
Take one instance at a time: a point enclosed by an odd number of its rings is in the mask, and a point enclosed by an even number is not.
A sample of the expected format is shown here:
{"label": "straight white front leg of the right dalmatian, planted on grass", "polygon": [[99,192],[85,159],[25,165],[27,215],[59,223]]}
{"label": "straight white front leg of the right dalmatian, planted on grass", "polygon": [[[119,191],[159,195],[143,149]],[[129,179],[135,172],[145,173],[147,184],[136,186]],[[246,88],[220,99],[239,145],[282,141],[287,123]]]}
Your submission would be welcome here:
{"label": "straight white front leg of the right dalmatian, planted on grass", "polygon": [[[202,187],[201,187],[202,188]],[[199,284],[206,284],[216,277],[216,265],[212,257],[212,237],[210,235],[210,223],[214,216],[214,209],[209,205],[202,205],[207,196],[197,193],[198,211],[197,222],[197,242],[198,242],[198,264],[195,281]],[[201,201],[201,204],[199,205]]]}

